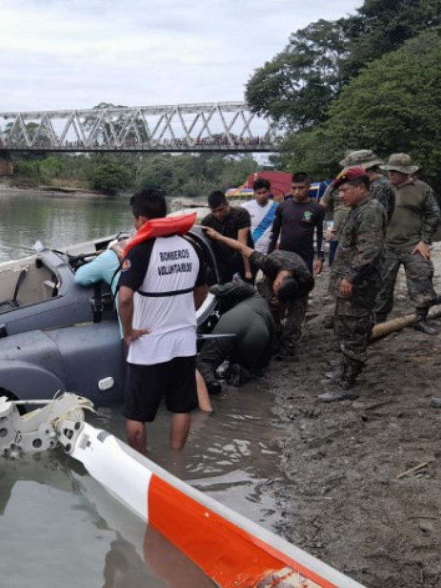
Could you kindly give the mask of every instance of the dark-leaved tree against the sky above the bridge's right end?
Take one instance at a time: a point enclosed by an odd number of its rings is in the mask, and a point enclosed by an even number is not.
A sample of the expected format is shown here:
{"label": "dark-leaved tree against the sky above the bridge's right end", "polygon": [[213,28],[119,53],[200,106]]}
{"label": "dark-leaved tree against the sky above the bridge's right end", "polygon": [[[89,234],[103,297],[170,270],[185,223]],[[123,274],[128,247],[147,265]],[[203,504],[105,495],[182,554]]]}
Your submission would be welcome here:
{"label": "dark-leaved tree against the sky above the bridge's right end", "polygon": [[292,34],[285,50],[249,79],[245,98],[252,110],[290,130],[325,120],[344,82],[347,43],[342,21],[321,19]]}

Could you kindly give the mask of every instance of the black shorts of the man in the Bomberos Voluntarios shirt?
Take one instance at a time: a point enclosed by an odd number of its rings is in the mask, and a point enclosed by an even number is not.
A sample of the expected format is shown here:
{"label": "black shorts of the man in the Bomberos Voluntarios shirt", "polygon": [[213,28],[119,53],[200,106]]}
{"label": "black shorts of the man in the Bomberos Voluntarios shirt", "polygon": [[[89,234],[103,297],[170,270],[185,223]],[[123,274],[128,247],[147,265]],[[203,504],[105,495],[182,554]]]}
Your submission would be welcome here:
{"label": "black shorts of the man in the Bomberos Voluntarios shirt", "polygon": [[175,357],[165,363],[129,363],[123,416],[151,423],[161,400],[170,412],[188,413],[198,407],[196,356]]}

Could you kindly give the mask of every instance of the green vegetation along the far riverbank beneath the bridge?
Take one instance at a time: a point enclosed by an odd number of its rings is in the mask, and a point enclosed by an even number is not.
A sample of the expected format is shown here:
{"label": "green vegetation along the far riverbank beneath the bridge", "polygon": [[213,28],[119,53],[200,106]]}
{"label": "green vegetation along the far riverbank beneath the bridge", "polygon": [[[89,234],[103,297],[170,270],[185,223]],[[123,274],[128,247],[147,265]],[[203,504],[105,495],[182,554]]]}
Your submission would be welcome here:
{"label": "green vegetation along the far riverbank beneath the bridge", "polygon": [[154,187],[170,196],[207,196],[243,184],[263,169],[252,156],[218,154],[23,154],[11,185],[76,187],[102,194]]}

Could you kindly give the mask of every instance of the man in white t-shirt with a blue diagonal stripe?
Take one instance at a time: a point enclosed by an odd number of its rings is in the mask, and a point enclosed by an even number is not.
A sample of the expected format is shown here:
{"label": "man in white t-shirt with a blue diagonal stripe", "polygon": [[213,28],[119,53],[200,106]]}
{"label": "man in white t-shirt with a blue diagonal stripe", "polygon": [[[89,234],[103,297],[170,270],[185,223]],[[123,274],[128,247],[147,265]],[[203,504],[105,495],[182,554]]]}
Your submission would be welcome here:
{"label": "man in white t-shirt with a blue diagonal stripe", "polygon": [[251,216],[251,236],[254,249],[264,255],[268,252],[271,226],[277,203],[270,199],[271,184],[265,178],[258,178],[253,184],[254,200],[241,204]]}

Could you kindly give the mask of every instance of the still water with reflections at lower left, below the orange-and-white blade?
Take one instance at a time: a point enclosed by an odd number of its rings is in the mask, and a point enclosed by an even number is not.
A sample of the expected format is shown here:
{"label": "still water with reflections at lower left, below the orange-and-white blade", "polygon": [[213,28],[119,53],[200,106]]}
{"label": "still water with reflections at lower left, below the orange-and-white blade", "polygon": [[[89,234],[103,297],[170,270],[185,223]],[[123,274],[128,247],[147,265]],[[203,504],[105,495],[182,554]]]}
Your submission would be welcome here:
{"label": "still water with reflections at lower left, below the orange-and-white blade", "polygon": [[212,588],[201,570],[62,453],[0,463],[8,588]]}

